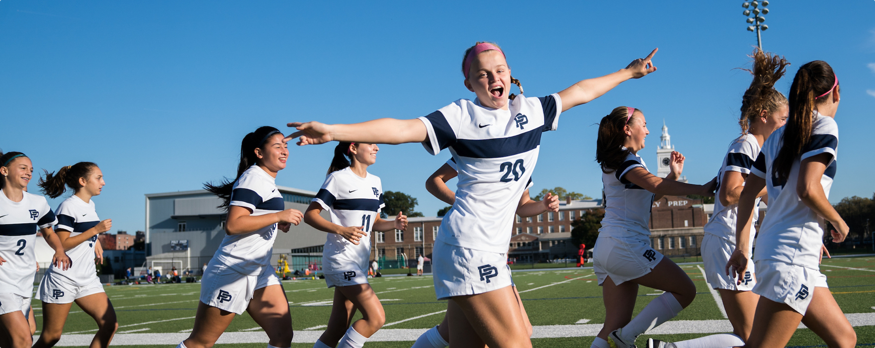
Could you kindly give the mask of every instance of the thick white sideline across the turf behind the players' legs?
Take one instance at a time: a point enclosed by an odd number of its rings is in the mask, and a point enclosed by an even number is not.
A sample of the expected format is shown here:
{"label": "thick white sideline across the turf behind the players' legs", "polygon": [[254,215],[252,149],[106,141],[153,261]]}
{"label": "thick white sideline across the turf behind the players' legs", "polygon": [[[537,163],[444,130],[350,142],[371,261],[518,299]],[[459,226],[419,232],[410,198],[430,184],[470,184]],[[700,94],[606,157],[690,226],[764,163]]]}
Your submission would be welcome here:
{"label": "thick white sideline across the turf behind the players' legs", "polygon": [[[852,326],[875,325],[875,312],[845,314]],[[800,326],[802,327],[802,325]],[[593,337],[601,331],[602,324],[567,324],[567,325],[539,325],[533,327],[532,338],[580,338]],[[420,335],[429,329],[382,329],[368,338],[368,342],[385,341],[415,341]],[[729,320],[673,320],[649,331],[651,335],[667,335],[677,333],[719,333],[732,332],[732,324]],[[124,333],[116,334],[113,345],[179,345],[188,338],[187,332],[160,332],[160,333]],[[292,343],[316,343],[322,331],[295,331]],[[33,338],[36,340],[38,337]],[[56,346],[87,346],[94,339],[94,334],[64,334]],[[266,343],[268,335],[264,331],[225,332],[216,344],[251,344]]]}

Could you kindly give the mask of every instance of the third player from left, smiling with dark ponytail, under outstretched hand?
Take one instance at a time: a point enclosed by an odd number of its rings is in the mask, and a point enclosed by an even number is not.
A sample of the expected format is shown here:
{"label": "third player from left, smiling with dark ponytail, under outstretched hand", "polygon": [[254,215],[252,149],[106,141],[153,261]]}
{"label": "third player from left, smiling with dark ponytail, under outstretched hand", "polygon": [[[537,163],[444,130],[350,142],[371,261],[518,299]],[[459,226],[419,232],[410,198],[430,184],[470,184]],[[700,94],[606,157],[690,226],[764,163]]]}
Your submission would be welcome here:
{"label": "third player from left, smiling with dark ponytail, under outstretched hand", "polygon": [[276,233],[289,232],[304,217],[285,209],[276,189],[288,157],[283,134],[260,127],[243,137],[235,179],[204,184],[228,208],[226,235],[200,281],[193,331],[178,348],[212,347],[244,310],[267,333],[268,348],[291,346],[289,300],[270,265]]}

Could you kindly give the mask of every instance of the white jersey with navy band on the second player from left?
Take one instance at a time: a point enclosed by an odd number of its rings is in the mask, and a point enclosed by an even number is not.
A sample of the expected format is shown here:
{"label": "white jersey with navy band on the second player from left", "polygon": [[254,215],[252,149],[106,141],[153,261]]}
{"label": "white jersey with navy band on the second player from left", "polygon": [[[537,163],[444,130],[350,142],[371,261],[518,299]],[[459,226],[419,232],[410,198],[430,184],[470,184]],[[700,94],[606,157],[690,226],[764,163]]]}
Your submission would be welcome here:
{"label": "white jersey with navy band on the second player from left", "polygon": [[[58,205],[57,214],[58,226],[55,226],[55,229],[69,232],[70,237],[84,233],[101,222],[101,219],[97,217],[97,212],[95,212],[95,200],[90,199],[88,203],[85,203],[82,198],[76,195],[64,199]],[[73,262],[72,267],[64,270],[52,264],[46,272],[58,275],[77,287],[93,283],[97,278],[97,268],[95,268],[95,244],[97,243],[99,241],[97,241],[95,234],[78,246],[66,251],[66,255],[70,256],[70,261]]]}

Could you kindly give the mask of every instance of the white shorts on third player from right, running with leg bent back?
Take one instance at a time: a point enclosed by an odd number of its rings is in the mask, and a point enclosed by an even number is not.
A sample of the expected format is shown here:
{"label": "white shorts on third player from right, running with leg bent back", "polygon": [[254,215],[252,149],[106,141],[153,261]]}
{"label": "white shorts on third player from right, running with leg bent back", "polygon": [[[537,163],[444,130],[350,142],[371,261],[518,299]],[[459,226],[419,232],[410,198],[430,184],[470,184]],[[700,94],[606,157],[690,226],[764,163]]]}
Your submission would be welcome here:
{"label": "white shorts on third player from right, running with leg bent back", "polygon": [[592,251],[592,269],[598,285],[610,275],[615,285],[647,275],[662,261],[662,253],[650,247],[648,236],[598,237]]}

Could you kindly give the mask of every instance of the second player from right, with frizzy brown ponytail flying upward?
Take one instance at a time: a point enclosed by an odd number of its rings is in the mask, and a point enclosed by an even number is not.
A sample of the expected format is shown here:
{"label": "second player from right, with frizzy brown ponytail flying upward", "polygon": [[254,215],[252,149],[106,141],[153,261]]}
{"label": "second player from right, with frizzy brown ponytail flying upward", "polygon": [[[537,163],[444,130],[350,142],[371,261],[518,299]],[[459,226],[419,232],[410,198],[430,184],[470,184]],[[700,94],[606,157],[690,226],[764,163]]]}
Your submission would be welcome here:
{"label": "second player from right, with frizzy brown ponytail flying upward", "polygon": [[[669,343],[648,339],[648,348],[723,348],[744,345],[753,326],[753,313],[757,308],[759,295],[751,292],[756,284],[753,269],[748,268],[741,282],[727,275],[726,261],[735,250],[735,218],[739,212],[739,195],[745,187],[745,178],[753,169],[753,161],[760,155],[763,142],[787,122],[787,97],[774,89],[774,83],[781,79],[790,63],[786,59],[759,48],[753,51],[753,81],[741,99],[741,136],[733,140],[726,151],[723,165],[718,171],[718,189],[714,202],[714,214],[704,226],[702,256],[705,276],[712,289],[718,289],[726,309],[726,317],[732,323],[732,334],[695,338]],[[760,191],[765,195],[766,191]],[[759,198],[756,205],[759,205]],[[753,211],[751,233],[758,211]],[[753,239],[746,246],[747,255],[753,253]],[[748,260],[750,261],[750,260]]]}

